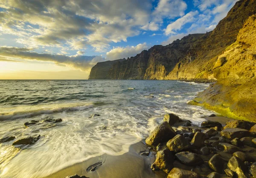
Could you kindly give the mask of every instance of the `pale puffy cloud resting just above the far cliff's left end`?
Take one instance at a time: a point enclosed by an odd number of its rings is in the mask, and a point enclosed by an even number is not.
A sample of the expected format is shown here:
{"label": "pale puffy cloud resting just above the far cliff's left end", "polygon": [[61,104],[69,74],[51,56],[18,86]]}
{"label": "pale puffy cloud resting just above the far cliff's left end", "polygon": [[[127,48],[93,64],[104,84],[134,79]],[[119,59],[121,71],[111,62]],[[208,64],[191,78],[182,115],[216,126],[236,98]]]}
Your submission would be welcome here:
{"label": "pale puffy cloud resting just above the far cliff's left end", "polygon": [[107,52],[106,59],[115,60],[122,59],[139,54],[141,51],[148,49],[148,45],[144,42],[143,44],[138,44],[137,46],[127,46],[127,47],[116,47],[111,51]]}

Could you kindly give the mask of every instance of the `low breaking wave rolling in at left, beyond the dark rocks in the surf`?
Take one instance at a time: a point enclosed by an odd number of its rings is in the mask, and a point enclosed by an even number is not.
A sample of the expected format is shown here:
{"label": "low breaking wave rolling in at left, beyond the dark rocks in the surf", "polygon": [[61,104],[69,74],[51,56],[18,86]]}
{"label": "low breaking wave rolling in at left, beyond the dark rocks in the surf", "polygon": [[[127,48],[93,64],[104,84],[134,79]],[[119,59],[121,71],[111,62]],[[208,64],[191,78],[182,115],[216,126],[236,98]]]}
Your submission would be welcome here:
{"label": "low breaking wave rolling in at left, beyond the dark rocks in the surf", "polygon": [[86,110],[87,108],[92,108],[93,106],[94,104],[88,104],[88,105],[70,106],[70,107],[53,107],[51,109],[39,108],[38,110],[17,111],[17,112],[0,115],[0,121],[20,119],[20,118],[31,118],[34,116],[40,116],[42,114],[62,113],[64,111],[72,112],[72,111]]}

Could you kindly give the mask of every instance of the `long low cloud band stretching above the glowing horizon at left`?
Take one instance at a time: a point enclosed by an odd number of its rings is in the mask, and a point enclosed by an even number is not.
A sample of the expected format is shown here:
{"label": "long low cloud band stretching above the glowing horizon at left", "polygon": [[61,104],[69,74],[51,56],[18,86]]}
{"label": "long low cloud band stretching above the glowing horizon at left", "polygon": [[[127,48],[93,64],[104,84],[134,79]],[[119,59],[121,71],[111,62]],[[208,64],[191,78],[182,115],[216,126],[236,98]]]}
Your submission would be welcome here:
{"label": "long low cloud band stretching above the glowing horizon at left", "polygon": [[65,56],[59,54],[45,54],[33,52],[29,48],[17,48],[9,46],[0,47],[0,56],[3,59],[9,57],[27,60],[38,60],[55,62],[56,65],[66,65],[81,71],[90,71],[95,65],[94,61],[105,61],[105,58],[99,56]]}

